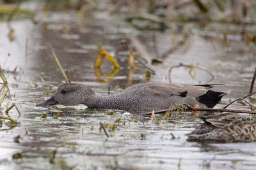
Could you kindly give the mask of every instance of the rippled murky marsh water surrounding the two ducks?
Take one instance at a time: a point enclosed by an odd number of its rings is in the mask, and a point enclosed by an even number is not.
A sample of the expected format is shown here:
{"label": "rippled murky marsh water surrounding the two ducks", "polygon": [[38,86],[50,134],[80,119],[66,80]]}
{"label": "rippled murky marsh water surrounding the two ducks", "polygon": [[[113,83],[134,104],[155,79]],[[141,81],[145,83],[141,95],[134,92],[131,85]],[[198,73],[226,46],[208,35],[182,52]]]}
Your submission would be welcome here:
{"label": "rippled murky marsh water surrounding the two ducks", "polygon": [[[172,31],[141,32],[106,13],[95,13],[83,22],[71,12],[47,17],[37,25],[29,20],[12,22],[15,29],[12,42],[7,36],[8,27],[0,23],[0,64],[11,91],[11,98],[4,100],[2,113],[5,115],[4,110],[12,103],[17,104],[22,113],[19,116],[14,108],[9,112],[10,117],[20,122],[17,127],[10,127],[6,124],[8,121],[2,120],[1,169],[255,169],[255,143],[186,141],[186,134],[202,123],[193,115],[173,114],[170,120],[157,116],[161,120],[157,124],[148,118],[122,117],[123,111],[110,116],[102,110],[86,110],[82,105],[60,106],[59,110],[50,111],[35,107],[43,98],[51,96],[45,91],[56,89],[64,82],[56,63],[45,51],[45,42],[51,43],[63,68],[70,71],[72,82],[90,85],[107,95],[104,92],[108,92],[109,84],[111,90],[122,90],[147,81],[144,76],[147,69],[138,62],[132,80],[129,79],[129,54],[120,45],[122,39],[132,42],[135,55],[146,51],[146,58],[150,59],[150,56],[164,55],[184,38],[184,34]],[[219,36],[208,37],[198,31],[185,39],[183,45],[161,59],[163,64],[148,64],[156,71],[150,81],[168,82],[170,66],[180,62],[199,64],[214,74],[213,80],[200,70],[196,70],[193,80],[189,70],[180,67],[173,69],[172,82],[224,83],[223,90],[233,91],[224,97],[223,103],[248,94],[256,63],[255,45],[246,45],[238,36],[238,39],[230,38],[230,45],[226,46]],[[116,76],[106,83],[99,81],[93,69],[99,44],[121,65]],[[12,73],[16,66],[23,71]],[[111,64],[104,61],[102,78],[112,69]],[[223,105],[217,107],[220,106]],[[241,104],[232,107],[248,108]],[[44,113],[47,118],[42,118]],[[63,114],[54,118],[58,113]],[[100,122],[116,125],[115,130],[106,127],[111,137],[107,138],[99,130]],[[17,143],[14,138],[19,135]],[[22,159],[12,159],[15,153],[21,153]]]}

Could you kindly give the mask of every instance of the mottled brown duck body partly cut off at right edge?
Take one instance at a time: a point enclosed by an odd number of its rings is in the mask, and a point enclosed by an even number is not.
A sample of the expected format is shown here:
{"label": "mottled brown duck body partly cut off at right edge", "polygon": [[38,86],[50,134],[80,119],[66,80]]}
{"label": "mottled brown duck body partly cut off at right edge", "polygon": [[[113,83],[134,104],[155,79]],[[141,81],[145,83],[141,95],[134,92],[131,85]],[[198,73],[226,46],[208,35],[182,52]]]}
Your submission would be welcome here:
{"label": "mottled brown duck body partly cut off at right edge", "polygon": [[234,113],[202,117],[204,124],[188,135],[191,141],[256,141],[256,118]]}

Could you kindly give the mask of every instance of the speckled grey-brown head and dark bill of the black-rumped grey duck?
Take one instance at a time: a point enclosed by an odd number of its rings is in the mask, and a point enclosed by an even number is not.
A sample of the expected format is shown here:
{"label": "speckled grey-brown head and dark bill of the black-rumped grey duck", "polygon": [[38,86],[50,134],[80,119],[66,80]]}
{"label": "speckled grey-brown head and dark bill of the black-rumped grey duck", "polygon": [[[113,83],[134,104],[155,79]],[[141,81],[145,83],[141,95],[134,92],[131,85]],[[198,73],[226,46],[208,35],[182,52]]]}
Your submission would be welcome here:
{"label": "speckled grey-brown head and dark bill of the black-rumped grey duck", "polygon": [[36,106],[54,104],[73,106],[77,104],[86,104],[87,101],[94,99],[95,96],[97,96],[97,93],[87,85],[65,83],[58,87],[50,99],[47,99],[47,101],[43,103],[36,104]]}

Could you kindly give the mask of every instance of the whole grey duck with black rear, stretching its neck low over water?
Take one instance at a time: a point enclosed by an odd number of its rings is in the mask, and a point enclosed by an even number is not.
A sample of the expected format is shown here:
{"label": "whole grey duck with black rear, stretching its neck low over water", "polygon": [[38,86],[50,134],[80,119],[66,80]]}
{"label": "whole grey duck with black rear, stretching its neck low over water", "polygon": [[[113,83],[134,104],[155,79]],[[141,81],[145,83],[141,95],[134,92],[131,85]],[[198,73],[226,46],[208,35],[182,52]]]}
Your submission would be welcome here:
{"label": "whole grey duck with black rear, stretching its neck low over water", "polygon": [[210,85],[175,85],[172,83],[140,83],[113,96],[101,96],[87,85],[65,83],[53,96],[36,106],[85,104],[88,108],[127,111],[164,110],[175,104],[213,108],[225,92],[215,92]]}

